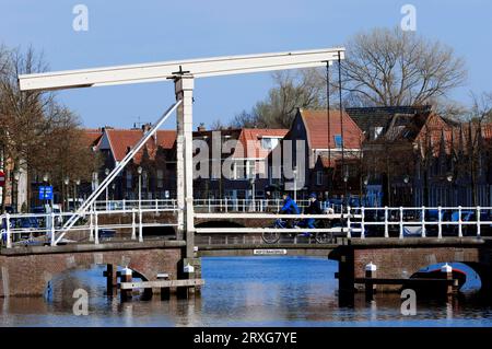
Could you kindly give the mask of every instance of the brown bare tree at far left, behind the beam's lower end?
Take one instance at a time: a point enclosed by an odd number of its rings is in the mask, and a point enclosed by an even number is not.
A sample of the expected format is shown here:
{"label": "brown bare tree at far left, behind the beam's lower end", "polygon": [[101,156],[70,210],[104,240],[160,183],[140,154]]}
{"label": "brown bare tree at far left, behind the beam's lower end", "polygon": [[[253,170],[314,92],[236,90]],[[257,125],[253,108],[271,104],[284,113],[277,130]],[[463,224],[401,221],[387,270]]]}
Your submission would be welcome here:
{"label": "brown bare tree at far left, behind the beam's lower end", "polygon": [[[52,93],[20,91],[17,77],[43,72],[47,65],[33,48],[13,49],[0,56],[0,147],[10,188],[13,173],[23,170],[32,176],[49,173],[57,184],[66,175],[87,178],[95,163],[77,117],[55,101]],[[54,182],[55,181],[55,182]],[[56,182],[58,181],[58,182]],[[27,198],[31,196],[27,185]],[[7,190],[2,191],[2,209]],[[27,202],[26,202],[27,203]]]}

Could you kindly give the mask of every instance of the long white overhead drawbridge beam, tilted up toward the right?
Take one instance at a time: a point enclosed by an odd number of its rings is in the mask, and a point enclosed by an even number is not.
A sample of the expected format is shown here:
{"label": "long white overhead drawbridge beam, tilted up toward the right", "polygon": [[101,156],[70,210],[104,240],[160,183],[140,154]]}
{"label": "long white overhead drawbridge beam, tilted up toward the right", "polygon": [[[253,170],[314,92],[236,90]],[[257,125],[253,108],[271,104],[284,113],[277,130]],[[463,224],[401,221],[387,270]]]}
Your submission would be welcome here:
{"label": "long white overhead drawbridge beam, tilted up toward the right", "polygon": [[325,66],[327,61],[336,61],[339,56],[344,59],[344,51],[343,47],[336,47],[24,74],[19,75],[19,84],[22,91],[60,90],[163,81],[181,72],[188,72],[194,78],[207,78],[312,68]]}

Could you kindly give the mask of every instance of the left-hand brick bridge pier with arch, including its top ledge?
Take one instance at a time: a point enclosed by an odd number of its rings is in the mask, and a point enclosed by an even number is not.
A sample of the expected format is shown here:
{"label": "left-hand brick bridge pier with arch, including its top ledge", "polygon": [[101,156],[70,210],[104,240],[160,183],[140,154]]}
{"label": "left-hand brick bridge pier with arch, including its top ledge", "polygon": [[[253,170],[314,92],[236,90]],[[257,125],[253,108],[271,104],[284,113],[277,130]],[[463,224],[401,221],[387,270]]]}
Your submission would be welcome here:
{"label": "left-hand brick bridge pier with arch, including its top ledge", "polygon": [[0,296],[40,296],[57,274],[94,265],[112,266],[113,283],[117,266],[132,269],[143,280],[156,280],[160,272],[178,279],[185,248],[184,241],[150,241],[2,249]]}

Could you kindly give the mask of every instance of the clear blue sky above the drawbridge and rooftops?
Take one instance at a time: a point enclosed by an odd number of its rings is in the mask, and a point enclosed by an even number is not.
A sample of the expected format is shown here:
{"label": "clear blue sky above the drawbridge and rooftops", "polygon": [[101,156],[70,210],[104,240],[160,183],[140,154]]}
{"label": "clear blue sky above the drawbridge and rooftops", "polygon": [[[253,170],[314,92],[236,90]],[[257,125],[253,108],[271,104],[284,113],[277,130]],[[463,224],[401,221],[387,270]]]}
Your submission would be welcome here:
{"label": "clear blue sky above the drawbridge and rooftops", "polygon": [[[72,28],[75,4],[89,8],[89,31]],[[353,34],[399,25],[417,8],[417,30],[466,59],[469,91],[492,91],[492,1],[488,0],[0,0],[0,43],[43,50],[51,70],[343,45]],[[272,86],[269,73],[197,81],[194,124],[226,123]],[[87,127],[153,121],[173,102],[169,82],[58,92]],[[167,121],[166,128],[174,127]]]}

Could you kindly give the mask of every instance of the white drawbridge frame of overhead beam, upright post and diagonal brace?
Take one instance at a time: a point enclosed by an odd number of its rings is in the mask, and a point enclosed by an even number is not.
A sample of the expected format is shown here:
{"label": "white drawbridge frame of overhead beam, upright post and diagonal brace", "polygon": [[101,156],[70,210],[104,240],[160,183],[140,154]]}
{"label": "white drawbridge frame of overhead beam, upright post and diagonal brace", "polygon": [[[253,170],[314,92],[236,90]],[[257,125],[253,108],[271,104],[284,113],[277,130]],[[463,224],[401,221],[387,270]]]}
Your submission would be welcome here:
{"label": "white drawbridge frame of overhead beam, upright post and diagonal brace", "polygon": [[[261,71],[312,68],[344,59],[344,48],[325,48],[316,50],[288,51],[276,54],[260,54],[247,56],[226,56],[201,58],[180,61],[164,61],[147,65],[132,65],[82,69],[70,71],[47,72],[19,75],[21,91],[27,90],[61,90],[75,88],[104,86],[127,83],[155,82],[173,79],[177,104],[177,201],[179,207],[178,231],[186,234],[186,257],[192,257],[194,247],[194,189],[192,189],[192,90],[194,79],[254,73]],[[169,112],[171,113],[171,112]],[[163,119],[161,119],[163,121]],[[157,123],[151,132],[162,124]],[[147,133],[139,142],[143,144]],[[139,147],[136,147],[139,148]],[[128,161],[132,158],[127,154]],[[107,186],[127,162],[113,170],[105,179],[104,186],[92,194],[82,208],[65,226],[63,232],[52,244],[57,244],[65,233],[70,230],[79,217],[85,212],[96,199],[98,191]],[[55,236],[54,236],[55,237]]]}

